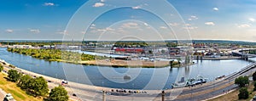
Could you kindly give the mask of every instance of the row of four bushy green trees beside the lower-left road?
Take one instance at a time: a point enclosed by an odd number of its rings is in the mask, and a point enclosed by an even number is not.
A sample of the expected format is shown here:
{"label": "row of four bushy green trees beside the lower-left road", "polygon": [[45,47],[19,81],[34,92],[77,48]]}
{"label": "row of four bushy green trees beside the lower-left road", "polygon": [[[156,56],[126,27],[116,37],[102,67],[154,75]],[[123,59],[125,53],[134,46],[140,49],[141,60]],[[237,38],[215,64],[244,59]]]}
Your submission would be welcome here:
{"label": "row of four bushy green trees beside the lower-left road", "polygon": [[8,78],[9,81],[17,82],[18,87],[36,97],[45,97],[49,94],[48,99],[50,101],[68,100],[67,91],[64,87],[55,87],[49,93],[47,81],[42,76],[32,78],[32,76],[20,74],[17,70],[9,70]]}

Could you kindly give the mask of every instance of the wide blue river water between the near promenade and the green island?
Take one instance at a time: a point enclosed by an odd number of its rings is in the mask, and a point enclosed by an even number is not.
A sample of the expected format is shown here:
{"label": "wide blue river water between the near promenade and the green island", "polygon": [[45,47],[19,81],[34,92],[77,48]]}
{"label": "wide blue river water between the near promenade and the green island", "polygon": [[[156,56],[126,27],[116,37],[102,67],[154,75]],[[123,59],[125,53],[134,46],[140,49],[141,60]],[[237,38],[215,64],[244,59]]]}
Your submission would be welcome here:
{"label": "wide blue river water between the near promenade and the green island", "polygon": [[[190,73],[190,77],[204,76],[212,81],[217,76],[227,76],[251,63],[241,59],[194,60],[195,65],[187,68],[112,68],[108,66],[73,65],[34,59],[19,53],[9,53],[0,48],[0,59],[24,70],[67,81],[88,85],[127,89],[166,89],[176,81],[179,71]],[[253,60],[256,60],[253,58]],[[131,76],[124,80],[123,76]]]}

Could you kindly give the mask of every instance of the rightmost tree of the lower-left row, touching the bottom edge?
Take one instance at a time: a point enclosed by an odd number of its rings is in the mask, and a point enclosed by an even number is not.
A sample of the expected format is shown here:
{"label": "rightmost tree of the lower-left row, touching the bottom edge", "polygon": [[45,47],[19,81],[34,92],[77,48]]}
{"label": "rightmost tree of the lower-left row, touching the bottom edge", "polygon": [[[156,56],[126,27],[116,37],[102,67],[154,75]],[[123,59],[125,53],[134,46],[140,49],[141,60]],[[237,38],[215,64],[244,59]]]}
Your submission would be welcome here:
{"label": "rightmost tree of the lower-left row, touching the bottom edge", "polygon": [[50,101],[67,101],[68,100],[67,90],[61,86],[51,89],[49,93],[49,100]]}

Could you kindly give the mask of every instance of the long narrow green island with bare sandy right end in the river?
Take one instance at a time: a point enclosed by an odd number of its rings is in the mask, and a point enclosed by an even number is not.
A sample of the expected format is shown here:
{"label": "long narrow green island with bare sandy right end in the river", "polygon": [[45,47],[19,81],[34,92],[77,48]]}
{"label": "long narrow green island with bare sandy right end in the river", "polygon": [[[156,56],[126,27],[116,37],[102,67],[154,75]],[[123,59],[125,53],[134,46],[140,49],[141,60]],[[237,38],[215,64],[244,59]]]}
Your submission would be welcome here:
{"label": "long narrow green island with bare sandy right end in the river", "polygon": [[[9,52],[32,56],[36,59],[48,61],[66,62],[78,65],[99,65],[110,67],[143,67],[160,68],[169,66],[169,61],[146,61],[146,60],[121,60],[108,59],[107,57],[95,56],[84,53],[61,51],[59,49],[32,49],[32,48],[8,48]],[[177,61],[172,63],[173,67],[180,67]]]}

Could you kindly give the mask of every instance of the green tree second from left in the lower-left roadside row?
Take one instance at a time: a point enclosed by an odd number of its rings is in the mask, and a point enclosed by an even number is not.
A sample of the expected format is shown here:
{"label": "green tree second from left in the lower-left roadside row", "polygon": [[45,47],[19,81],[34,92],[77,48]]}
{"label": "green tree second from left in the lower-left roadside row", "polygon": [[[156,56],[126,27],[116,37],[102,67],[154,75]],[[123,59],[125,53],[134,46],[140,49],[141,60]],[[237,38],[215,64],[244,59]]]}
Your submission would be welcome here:
{"label": "green tree second from left in the lower-left roadside row", "polygon": [[31,86],[30,83],[32,83],[32,77],[25,75],[25,76],[21,76],[20,77],[20,81],[18,82],[18,85],[23,88],[23,89],[27,89]]}

